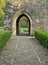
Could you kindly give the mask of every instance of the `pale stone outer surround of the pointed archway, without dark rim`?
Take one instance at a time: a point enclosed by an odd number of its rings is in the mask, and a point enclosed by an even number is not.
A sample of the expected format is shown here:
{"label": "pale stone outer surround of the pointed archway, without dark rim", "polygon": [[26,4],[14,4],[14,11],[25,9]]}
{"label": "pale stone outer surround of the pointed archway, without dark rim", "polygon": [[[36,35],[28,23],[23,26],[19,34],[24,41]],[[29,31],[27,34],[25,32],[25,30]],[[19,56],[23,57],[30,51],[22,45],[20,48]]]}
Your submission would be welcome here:
{"label": "pale stone outer surround of the pointed archway, without dark rim", "polygon": [[20,15],[25,15],[29,21],[30,21],[30,35],[32,35],[32,32],[33,32],[33,27],[32,27],[32,16],[31,14],[28,12],[28,11],[25,11],[25,10],[20,10],[18,12],[16,12],[16,14],[14,15],[13,17],[13,21],[12,21],[12,32],[13,32],[13,35],[16,35],[17,34],[17,20],[19,18]]}

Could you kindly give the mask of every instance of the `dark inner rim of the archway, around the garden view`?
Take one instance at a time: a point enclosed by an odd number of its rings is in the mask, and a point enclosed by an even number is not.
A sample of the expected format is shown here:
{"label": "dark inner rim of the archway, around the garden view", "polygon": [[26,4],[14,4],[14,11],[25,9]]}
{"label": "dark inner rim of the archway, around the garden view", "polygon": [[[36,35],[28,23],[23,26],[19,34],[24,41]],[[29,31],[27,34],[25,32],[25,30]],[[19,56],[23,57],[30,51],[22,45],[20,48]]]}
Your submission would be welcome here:
{"label": "dark inner rim of the archway, around the garden view", "polygon": [[[20,25],[20,19],[22,18],[22,17],[26,17],[27,19],[28,19],[28,33],[20,33],[19,32],[19,25]],[[30,19],[25,15],[25,14],[21,14],[18,18],[17,18],[17,21],[16,21],[16,35],[30,35]]]}

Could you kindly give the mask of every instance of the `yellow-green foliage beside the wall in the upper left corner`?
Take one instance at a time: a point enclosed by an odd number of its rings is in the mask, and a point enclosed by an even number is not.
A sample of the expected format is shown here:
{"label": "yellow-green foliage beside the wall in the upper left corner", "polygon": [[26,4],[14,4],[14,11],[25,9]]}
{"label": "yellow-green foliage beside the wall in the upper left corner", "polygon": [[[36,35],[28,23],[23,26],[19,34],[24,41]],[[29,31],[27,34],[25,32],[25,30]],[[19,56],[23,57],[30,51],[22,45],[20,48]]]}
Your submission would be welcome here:
{"label": "yellow-green foliage beside the wall in the upper left corner", "polygon": [[4,9],[6,7],[6,3],[9,0],[0,0],[0,26],[3,26],[3,21],[4,21]]}

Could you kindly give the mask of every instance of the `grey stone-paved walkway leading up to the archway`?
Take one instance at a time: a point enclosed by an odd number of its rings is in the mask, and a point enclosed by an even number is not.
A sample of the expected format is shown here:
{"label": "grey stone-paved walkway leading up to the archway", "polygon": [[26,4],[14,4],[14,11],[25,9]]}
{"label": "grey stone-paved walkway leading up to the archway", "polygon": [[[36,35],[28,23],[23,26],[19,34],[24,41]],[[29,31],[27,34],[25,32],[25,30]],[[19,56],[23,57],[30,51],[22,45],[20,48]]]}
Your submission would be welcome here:
{"label": "grey stone-paved walkway leading up to the archway", "polygon": [[48,65],[48,50],[35,38],[12,37],[0,50],[0,65]]}

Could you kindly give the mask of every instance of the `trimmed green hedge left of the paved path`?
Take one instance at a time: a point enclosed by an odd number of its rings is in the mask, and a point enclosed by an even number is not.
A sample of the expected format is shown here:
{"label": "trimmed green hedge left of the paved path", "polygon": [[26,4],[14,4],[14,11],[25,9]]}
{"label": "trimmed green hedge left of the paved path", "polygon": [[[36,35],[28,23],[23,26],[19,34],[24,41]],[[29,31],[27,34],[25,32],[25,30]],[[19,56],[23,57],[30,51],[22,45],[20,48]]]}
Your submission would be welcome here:
{"label": "trimmed green hedge left of the paved path", "polygon": [[2,48],[6,42],[10,39],[11,31],[4,30],[0,32],[0,48]]}

